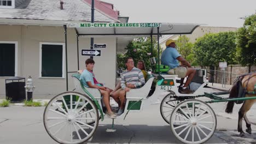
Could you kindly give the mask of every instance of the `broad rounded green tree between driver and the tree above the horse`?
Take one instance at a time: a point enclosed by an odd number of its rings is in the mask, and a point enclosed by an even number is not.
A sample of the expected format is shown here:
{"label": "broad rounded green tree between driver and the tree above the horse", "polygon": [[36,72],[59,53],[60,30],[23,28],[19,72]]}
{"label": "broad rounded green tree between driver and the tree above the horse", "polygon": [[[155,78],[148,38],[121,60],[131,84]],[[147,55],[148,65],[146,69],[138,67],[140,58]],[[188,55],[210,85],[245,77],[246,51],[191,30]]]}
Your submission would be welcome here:
{"label": "broad rounded green tree between driver and the tree above the horse", "polygon": [[236,33],[209,33],[197,39],[194,44],[194,56],[199,65],[218,66],[219,62],[236,64]]}

